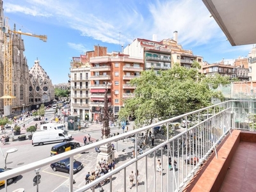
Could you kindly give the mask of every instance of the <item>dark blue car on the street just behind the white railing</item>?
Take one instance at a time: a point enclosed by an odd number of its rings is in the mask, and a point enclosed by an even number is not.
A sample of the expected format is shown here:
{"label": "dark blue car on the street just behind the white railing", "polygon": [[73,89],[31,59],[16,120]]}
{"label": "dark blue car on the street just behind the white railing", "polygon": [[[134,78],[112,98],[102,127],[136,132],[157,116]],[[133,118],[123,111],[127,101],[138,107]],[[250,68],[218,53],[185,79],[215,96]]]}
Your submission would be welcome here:
{"label": "dark blue car on the street just behind the white railing", "polygon": [[[74,173],[79,172],[79,170],[83,168],[83,164],[80,161],[76,161],[76,159],[74,159],[73,163],[74,163],[74,169],[73,169]],[[69,164],[70,164],[70,159],[68,157],[67,159],[63,159],[55,163],[52,163],[50,166],[54,172],[59,171],[59,172],[69,173],[70,172]]]}

